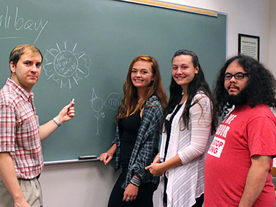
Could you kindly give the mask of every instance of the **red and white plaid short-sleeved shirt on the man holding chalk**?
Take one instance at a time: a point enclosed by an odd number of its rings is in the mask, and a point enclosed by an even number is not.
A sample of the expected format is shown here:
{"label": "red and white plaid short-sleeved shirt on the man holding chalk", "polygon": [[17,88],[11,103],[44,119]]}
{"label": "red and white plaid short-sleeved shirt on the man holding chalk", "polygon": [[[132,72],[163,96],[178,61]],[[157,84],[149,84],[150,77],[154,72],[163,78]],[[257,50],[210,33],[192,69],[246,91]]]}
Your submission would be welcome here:
{"label": "red and white plaid short-sleeved shirt on the man holding chalk", "polygon": [[0,152],[9,152],[18,178],[33,179],[43,169],[34,94],[10,78],[0,90]]}

